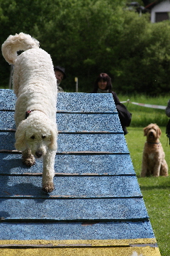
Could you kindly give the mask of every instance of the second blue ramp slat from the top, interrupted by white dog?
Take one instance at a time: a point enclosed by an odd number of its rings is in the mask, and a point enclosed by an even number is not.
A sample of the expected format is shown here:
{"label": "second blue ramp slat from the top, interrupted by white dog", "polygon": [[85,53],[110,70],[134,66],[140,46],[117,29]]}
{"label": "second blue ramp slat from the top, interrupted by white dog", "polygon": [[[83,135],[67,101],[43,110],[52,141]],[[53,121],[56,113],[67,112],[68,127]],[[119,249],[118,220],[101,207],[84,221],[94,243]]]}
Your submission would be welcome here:
{"label": "second blue ramp slat from the top, interrupted by white dog", "polygon": [[[14,112],[0,111],[0,130],[16,129]],[[57,113],[60,132],[122,132],[118,114]]]}

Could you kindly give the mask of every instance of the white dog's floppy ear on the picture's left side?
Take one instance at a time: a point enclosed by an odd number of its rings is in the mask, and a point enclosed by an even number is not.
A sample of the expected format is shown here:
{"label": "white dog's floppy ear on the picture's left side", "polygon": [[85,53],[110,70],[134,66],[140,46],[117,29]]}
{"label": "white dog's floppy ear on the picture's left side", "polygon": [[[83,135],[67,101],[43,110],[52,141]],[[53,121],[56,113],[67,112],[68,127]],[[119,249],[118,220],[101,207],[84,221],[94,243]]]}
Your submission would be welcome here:
{"label": "white dog's floppy ear on the picture's left side", "polygon": [[18,151],[24,151],[26,149],[26,120],[23,120],[16,129],[16,143],[15,147]]}

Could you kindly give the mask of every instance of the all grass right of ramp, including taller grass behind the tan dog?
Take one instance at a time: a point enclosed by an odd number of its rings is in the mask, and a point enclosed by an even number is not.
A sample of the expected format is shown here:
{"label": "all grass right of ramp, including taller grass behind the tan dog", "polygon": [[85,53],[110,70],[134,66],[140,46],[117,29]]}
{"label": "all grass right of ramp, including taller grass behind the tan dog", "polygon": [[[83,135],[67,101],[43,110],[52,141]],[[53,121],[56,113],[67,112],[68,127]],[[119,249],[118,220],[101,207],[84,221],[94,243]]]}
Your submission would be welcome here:
{"label": "all grass right of ramp, including taller grass behind the tan dog", "polygon": [[[120,97],[120,100],[127,100],[128,97]],[[131,100],[131,99],[130,99]],[[133,97],[132,102],[140,102],[154,105],[167,105],[169,98],[147,98]],[[127,105],[127,104],[125,104]],[[142,166],[142,151],[146,141],[143,136],[143,127],[154,122],[162,129],[160,138],[166,154],[167,164],[170,166],[170,146],[166,137],[166,117],[164,110],[157,110],[137,105],[128,105],[132,112],[132,123],[128,127],[128,134],[125,135],[132,163],[137,174],[137,179],[144,197],[147,212],[149,214],[154,235],[157,239],[159,250],[162,256],[170,255],[170,176],[168,177],[147,177],[140,178]]]}

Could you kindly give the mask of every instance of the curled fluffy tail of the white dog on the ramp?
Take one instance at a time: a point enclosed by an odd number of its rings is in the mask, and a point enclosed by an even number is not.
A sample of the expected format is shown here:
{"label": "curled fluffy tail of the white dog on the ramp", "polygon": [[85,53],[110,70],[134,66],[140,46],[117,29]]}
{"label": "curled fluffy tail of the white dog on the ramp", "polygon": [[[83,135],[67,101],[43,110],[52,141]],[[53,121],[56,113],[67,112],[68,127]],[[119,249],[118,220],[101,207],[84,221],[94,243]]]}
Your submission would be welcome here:
{"label": "curled fluffy tail of the white dog on the ramp", "polygon": [[39,48],[40,43],[25,33],[19,33],[15,36],[8,36],[6,41],[2,44],[2,55],[9,64],[14,64],[18,57],[18,50],[28,50],[31,48]]}

